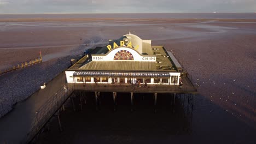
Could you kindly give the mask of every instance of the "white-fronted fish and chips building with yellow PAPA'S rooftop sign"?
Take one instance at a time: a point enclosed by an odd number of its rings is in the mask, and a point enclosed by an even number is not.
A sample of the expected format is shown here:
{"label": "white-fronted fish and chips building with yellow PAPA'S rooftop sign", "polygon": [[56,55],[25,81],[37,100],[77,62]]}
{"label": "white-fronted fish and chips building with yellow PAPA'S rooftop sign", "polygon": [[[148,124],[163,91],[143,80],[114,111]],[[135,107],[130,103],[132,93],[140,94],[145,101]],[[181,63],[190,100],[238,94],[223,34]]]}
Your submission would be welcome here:
{"label": "white-fronted fish and chips building with yellow PAPA'S rooftop sign", "polygon": [[177,85],[181,65],[162,46],[126,34],[96,47],[66,70],[68,83]]}

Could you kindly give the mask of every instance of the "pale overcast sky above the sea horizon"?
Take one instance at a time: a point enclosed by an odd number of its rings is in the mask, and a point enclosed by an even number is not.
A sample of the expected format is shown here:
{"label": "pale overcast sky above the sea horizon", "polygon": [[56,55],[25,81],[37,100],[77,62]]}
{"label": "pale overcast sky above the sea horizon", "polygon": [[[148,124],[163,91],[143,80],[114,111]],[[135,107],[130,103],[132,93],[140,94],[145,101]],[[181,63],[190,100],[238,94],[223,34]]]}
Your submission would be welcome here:
{"label": "pale overcast sky above the sea horizon", "polygon": [[0,0],[0,14],[247,13],[256,0]]}

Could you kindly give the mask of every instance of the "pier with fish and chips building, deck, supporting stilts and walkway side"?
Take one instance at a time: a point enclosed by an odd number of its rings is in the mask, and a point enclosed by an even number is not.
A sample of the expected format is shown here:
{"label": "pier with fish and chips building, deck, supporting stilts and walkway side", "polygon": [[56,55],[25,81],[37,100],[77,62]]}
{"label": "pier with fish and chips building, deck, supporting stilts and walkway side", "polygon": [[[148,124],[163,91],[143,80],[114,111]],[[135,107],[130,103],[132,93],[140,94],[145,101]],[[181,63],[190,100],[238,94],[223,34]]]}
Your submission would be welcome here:
{"label": "pier with fish and chips building, deck, supporting stilts and walkway side", "polygon": [[104,98],[102,96],[106,95],[102,93],[113,93],[115,111],[118,97],[124,96],[120,93],[129,93],[133,111],[134,97],[138,97],[135,93],[147,93],[145,95],[154,100],[153,107],[156,112],[158,93],[164,93],[161,95],[171,97],[173,112],[177,97],[184,106],[184,113],[189,119],[192,117],[197,89],[191,78],[189,79],[188,73],[183,70],[172,52],[166,51],[163,46],[152,46],[151,40],[142,40],[137,35],[129,33],[120,39],[109,40],[108,45],[96,47],[65,73],[67,83],[37,111],[26,142],[34,140],[40,131],[48,128],[47,123],[53,116],[57,116],[62,131],[59,115],[61,111],[65,111],[66,101],[71,99],[73,110],[76,111],[80,107],[82,111],[91,94],[98,110]]}

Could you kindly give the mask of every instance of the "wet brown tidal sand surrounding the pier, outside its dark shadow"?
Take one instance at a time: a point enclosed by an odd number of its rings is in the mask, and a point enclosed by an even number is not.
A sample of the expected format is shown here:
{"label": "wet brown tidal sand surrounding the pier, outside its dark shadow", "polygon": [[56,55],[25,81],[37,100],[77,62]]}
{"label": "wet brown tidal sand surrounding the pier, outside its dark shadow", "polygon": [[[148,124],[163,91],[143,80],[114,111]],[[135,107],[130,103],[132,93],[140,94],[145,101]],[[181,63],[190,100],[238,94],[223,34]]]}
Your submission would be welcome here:
{"label": "wet brown tidal sand surrounding the pier, outside its dark shadow", "polygon": [[[217,140],[225,142],[252,143],[255,141],[252,134],[256,131],[255,29],[255,20],[241,19],[0,22],[1,70],[38,57],[39,50],[42,51],[44,61],[43,67],[37,65],[0,76],[0,98],[14,95],[18,99],[20,90],[14,90],[19,87],[14,83],[23,82],[26,86],[31,82],[29,79],[24,82],[26,76],[32,76],[33,80],[40,77],[38,82],[31,83],[37,86],[22,88],[24,97],[28,97],[26,93],[32,93],[39,87],[40,82],[49,77],[44,74],[45,70],[50,74],[52,71],[57,73],[64,69],[61,67],[62,57],[77,55],[84,49],[106,44],[108,39],[117,39],[131,31],[142,39],[152,39],[152,45],[164,45],[167,50],[172,50],[178,61],[193,76],[193,82],[199,86],[200,94],[195,97],[193,111],[193,130],[189,135],[205,136],[205,139],[217,135]],[[65,63],[68,65],[68,59]],[[63,117],[68,119],[68,116],[72,115],[77,114],[69,113]],[[104,117],[101,116],[99,118]],[[69,122],[72,121],[73,119],[69,119]],[[111,131],[106,133],[111,134]],[[62,137],[61,134],[56,133],[57,137]],[[104,137],[104,134],[102,135]],[[154,139],[154,136],[151,137]],[[126,141],[126,138],[117,138],[115,142]],[[92,142],[93,140],[97,142],[96,139],[92,139]],[[101,140],[103,141],[103,138]]]}

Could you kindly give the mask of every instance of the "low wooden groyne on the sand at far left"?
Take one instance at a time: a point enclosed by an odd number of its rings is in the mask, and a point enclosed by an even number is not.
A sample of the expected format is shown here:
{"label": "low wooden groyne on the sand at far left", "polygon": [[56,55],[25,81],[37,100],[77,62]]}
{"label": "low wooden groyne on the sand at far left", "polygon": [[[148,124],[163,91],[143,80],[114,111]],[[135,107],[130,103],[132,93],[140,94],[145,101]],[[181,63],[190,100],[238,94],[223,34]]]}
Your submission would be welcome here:
{"label": "low wooden groyne on the sand at far left", "polygon": [[30,61],[26,61],[26,62],[21,62],[20,64],[14,65],[13,67],[10,67],[9,69],[5,69],[5,70],[0,70],[0,75],[5,74],[5,73],[9,73],[10,71],[14,71],[17,69],[21,69],[21,68],[26,68],[26,67],[30,67],[34,64],[38,64],[42,62],[42,54],[40,52],[40,57],[35,58],[35,59],[30,59]]}

